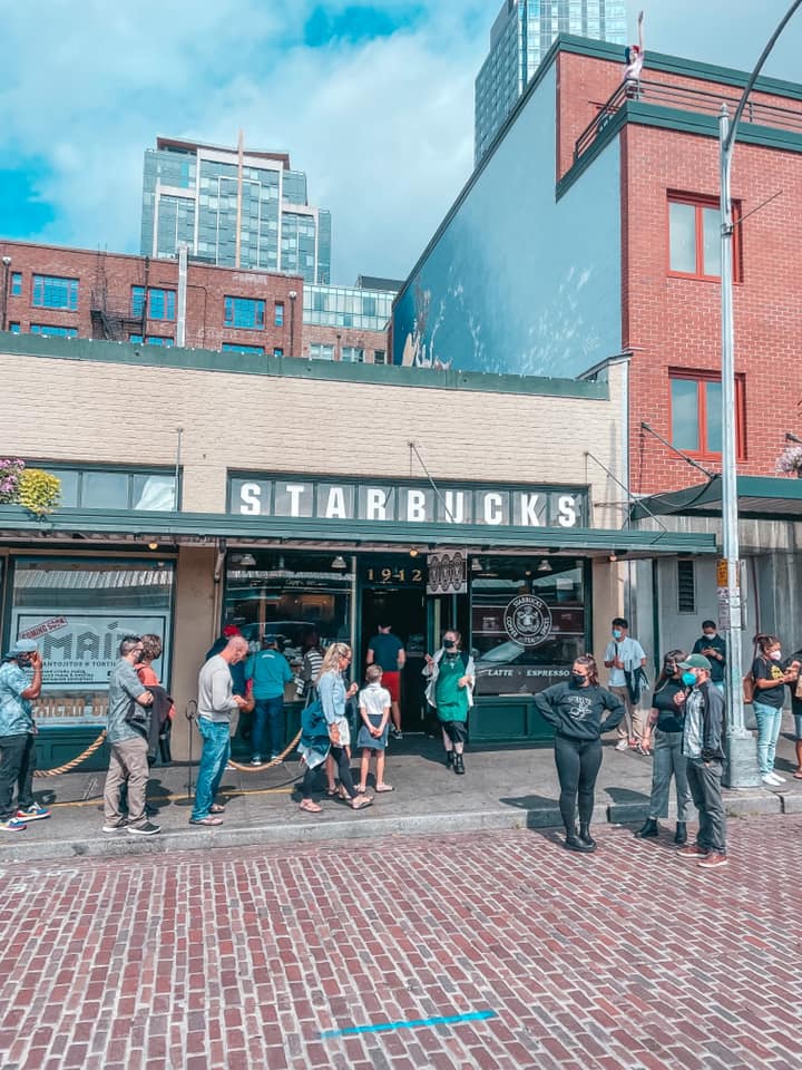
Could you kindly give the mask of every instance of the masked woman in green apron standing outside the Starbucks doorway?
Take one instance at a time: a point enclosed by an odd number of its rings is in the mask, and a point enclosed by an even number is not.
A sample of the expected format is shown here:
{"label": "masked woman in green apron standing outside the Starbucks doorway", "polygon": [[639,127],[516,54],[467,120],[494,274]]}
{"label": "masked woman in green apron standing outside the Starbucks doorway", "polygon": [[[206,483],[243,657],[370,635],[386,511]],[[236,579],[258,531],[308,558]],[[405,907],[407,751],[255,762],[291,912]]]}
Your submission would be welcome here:
{"label": "masked woman in green apron standing outside the Starbucks doorway", "polygon": [[464,774],[464,741],[468,737],[468,711],[473,706],[476,668],[473,659],[460,650],[462,636],[454,628],[443,635],[443,644],[434,656],[426,655],[423,675],[429,679],[426,697],[433,706],[442,728],[446,766],[458,776]]}

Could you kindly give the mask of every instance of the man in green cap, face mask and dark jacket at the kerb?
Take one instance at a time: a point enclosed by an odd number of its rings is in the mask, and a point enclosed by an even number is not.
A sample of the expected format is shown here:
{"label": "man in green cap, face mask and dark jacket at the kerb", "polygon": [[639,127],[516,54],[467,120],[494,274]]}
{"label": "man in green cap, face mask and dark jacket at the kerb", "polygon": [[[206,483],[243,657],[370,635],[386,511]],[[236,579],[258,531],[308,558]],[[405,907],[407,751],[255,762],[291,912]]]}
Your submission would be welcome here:
{"label": "man in green cap, face mask and dark jacket at the kerb", "polygon": [[704,654],[691,654],[679,662],[679,669],[682,682],[691,688],[685,699],[682,752],[700,827],[696,843],[681,847],[677,855],[697,862],[703,869],[717,869],[727,864],[726,817],[721,794],[724,696],[711,683],[711,663]]}

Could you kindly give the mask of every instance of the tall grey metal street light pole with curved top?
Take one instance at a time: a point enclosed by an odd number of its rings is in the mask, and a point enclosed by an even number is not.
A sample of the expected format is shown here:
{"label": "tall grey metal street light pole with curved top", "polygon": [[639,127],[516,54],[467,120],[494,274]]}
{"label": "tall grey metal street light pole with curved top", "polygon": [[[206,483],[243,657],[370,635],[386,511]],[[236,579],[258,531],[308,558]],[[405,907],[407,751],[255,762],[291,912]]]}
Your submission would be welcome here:
{"label": "tall grey metal street light pole with curved top", "polygon": [[[789,19],[802,6],[794,0],[777,28],[774,30],[757,66],[750,75],[732,124],[727,106],[722,105],[718,120],[718,153],[721,165],[721,307],[722,307],[722,542],[726,561],[726,583],[721,584],[723,601],[722,624],[727,643],[726,659],[726,713],[727,762],[724,782],[730,788],[746,788],[760,784],[757,757],[752,733],[746,730],[741,680],[743,675],[741,632],[741,584],[739,576],[737,514],[737,453],[735,437],[735,343],[733,318],[733,215],[731,198],[732,155],[735,147],[737,125],[746,99],[757,80],[777,38]],[[721,577],[723,578],[723,577]]]}

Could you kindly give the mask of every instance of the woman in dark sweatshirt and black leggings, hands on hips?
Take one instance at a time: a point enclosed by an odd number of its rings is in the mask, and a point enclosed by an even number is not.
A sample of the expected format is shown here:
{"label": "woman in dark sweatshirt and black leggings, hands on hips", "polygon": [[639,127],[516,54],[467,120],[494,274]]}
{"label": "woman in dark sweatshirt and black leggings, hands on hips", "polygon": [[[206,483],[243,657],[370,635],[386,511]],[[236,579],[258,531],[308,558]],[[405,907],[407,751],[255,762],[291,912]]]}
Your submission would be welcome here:
{"label": "woman in dark sweatshirt and black leggings, hands on hips", "polygon": [[[544,720],[555,730],[555,761],[560,782],[560,815],[569,850],[590,852],[596,777],[602,766],[602,732],[620,722],[624,706],[617,696],[599,687],[596,660],[577,658],[567,683],[556,683],[535,696]],[[576,830],[577,798],[579,835]]]}

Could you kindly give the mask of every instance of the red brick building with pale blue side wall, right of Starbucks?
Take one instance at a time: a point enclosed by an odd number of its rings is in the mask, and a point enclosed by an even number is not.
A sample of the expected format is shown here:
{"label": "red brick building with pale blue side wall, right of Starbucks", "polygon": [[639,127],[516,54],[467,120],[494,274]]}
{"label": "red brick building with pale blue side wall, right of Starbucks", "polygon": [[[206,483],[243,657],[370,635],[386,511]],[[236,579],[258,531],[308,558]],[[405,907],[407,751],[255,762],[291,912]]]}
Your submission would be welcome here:
{"label": "red brick building with pale blue side wall, right of Starbucks", "polygon": [[[622,527],[720,535],[718,116],[749,76],[652,51],[638,86],[623,69],[618,46],[557,39],[402,286],[393,359],[590,378],[626,361],[608,484]],[[749,659],[756,629],[802,642],[802,488],[775,469],[786,432],[802,439],[802,85],[757,80],[732,197]],[[598,444],[576,434],[591,471]],[[656,664],[717,614],[715,570],[693,558],[622,583]]]}

